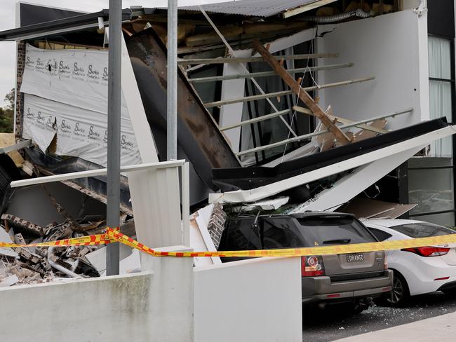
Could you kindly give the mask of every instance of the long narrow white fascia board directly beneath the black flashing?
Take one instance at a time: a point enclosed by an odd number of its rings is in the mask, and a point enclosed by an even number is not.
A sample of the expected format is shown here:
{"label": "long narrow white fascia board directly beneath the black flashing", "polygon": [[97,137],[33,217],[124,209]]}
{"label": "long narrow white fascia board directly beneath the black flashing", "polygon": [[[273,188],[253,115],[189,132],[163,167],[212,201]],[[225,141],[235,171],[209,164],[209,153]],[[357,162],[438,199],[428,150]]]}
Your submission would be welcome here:
{"label": "long narrow white fascia board directly beneath the black flashing", "polygon": [[392,154],[413,149],[417,146],[428,144],[429,142],[432,142],[436,139],[448,137],[449,135],[453,135],[455,132],[456,125],[451,125],[445,128],[441,128],[440,130],[435,130],[434,132],[429,132],[427,134],[405,140],[404,142],[398,142],[397,144],[393,144],[391,146],[386,146],[382,149],[377,149],[376,151],[362,154],[361,156],[356,156],[354,158],[343,160],[340,163],[335,163],[333,165],[321,167],[319,169],[312,170],[302,175],[297,175],[295,177],[283,179],[279,182],[260,186],[255,189],[229,191],[226,193],[210,193],[209,203],[241,203],[261,200],[262,198],[274,196],[277,193],[281,193],[282,191],[293,189],[296,186],[314,182],[318,179],[322,179],[331,175],[336,175],[337,173],[351,170],[361,165],[372,163],[375,160],[385,158]]}

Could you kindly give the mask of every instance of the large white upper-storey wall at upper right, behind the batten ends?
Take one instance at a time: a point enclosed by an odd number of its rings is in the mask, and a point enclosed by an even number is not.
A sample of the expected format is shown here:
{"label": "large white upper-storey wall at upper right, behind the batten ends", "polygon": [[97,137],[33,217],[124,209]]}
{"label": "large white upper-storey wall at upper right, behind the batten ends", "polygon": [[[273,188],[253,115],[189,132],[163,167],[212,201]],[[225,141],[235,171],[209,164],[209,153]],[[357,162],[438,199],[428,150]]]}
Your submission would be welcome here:
{"label": "large white upper-storey wall at upper right, behind the batten ends", "polygon": [[389,119],[387,128],[393,130],[429,119],[427,15],[407,10],[320,25],[318,34],[323,32],[328,33],[318,39],[318,53],[340,53],[337,63],[354,62],[354,67],[319,71],[319,84],[375,80],[320,90],[322,107],[331,104],[335,115],[351,120],[414,108],[412,114]]}

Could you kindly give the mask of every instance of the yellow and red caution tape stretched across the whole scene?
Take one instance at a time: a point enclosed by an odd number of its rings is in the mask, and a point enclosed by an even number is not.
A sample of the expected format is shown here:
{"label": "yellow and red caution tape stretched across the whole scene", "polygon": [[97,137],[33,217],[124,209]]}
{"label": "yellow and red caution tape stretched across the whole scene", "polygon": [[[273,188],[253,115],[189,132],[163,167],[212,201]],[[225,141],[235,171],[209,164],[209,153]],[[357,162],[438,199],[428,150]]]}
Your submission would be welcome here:
{"label": "yellow and red caution tape stretched across the whole scene", "polygon": [[223,252],[161,252],[129,238],[119,231],[119,228],[107,228],[105,234],[83,236],[58,241],[48,241],[20,245],[16,243],[0,242],[0,247],[65,247],[65,246],[94,246],[106,245],[112,242],[121,242],[153,257],[303,257],[309,255],[330,255],[363,253],[381,250],[415,248],[423,246],[448,245],[456,243],[456,234],[432,236],[430,238],[416,238],[408,240],[394,240],[384,242],[367,242],[353,245],[330,245],[323,247],[301,247],[286,249],[261,249]]}

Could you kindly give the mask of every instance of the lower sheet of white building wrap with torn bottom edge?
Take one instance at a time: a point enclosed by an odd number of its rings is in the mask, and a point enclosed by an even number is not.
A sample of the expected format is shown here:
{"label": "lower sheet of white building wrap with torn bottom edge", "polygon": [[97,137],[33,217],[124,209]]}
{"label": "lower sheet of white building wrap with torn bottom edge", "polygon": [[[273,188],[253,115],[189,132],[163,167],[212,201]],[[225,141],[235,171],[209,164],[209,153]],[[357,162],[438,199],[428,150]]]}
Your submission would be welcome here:
{"label": "lower sheet of white building wrap with torn bottom edge", "polygon": [[[23,137],[46,151],[55,135],[55,153],[107,165],[107,115],[25,94]],[[121,118],[121,164],[141,163],[130,120]]]}

